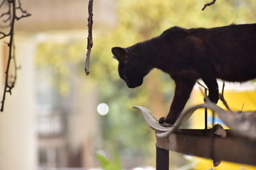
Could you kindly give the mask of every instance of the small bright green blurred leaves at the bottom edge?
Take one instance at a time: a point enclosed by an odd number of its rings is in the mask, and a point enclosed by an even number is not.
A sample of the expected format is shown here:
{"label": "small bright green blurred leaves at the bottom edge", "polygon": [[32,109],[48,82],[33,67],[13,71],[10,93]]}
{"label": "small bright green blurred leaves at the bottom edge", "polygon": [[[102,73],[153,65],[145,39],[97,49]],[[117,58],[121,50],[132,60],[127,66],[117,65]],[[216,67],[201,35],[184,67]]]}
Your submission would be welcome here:
{"label": "small bright green blurred leaves at the bottom edge", "polygon": [[104,170],[121,170],[121,162],[118,155],[114,155],[113,161],[107,159],[106,157],[100,155],[99,153],[95,153],[95,157],[100,162],[102,169]]}

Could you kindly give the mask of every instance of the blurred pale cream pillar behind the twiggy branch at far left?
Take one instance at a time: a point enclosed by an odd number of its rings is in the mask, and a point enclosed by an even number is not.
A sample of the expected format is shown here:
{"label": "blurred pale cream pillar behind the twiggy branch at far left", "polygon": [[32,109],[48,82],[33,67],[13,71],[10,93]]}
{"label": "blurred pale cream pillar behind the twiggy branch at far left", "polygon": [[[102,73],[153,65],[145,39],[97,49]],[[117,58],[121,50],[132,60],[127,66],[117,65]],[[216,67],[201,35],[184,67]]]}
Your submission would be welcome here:
{"label": "blurred pale cream pillar behind the twiggy branch at far left", "polygon": [[[0,113],[0,169],[35,169],[36,168],[36,131],[35,131],[35,82],[33,43],[22,41],[16,46],[19,55],[19,80],[12,90],[12,96],[6,94],[4,111]],[[2,97],[4,72],[8,47],[0,43],[0,89]],[[30,46],[27,46],[30,45]],[[13,73],[13,66],[10,68]],[[2,99],[2,98],[1,98]]]}

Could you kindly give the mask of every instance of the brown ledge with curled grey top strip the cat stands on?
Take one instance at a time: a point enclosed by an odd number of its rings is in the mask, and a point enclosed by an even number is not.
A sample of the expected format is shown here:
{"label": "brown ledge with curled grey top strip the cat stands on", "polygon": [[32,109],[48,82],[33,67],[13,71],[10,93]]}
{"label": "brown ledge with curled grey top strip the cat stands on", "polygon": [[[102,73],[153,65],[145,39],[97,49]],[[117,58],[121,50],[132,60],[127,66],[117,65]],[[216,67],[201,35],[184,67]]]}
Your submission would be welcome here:
{"label": "brown ledge with curled grey top strip the cat stands on", "polygon": [[[154,114],[142,106],[134,106],[141,111],[149,127],[156,132],[157,161],[164,159],[168,150],[194,155],[212,160],[226,160],[256,166],[256,111],[225,111],[212,103],[199,104],[183,111],[171,127],[158,124]],[[216,113],[232,130],[226,138],[216,136],[212,129],[178,129],[198,108],[209,108]],[[164,159],[165,160],[165,159]],[[163,170],[162,164],[157,169]],[[160,168],[161,167],[161,168]],[[164,166],[168,169],[168,166]]]}

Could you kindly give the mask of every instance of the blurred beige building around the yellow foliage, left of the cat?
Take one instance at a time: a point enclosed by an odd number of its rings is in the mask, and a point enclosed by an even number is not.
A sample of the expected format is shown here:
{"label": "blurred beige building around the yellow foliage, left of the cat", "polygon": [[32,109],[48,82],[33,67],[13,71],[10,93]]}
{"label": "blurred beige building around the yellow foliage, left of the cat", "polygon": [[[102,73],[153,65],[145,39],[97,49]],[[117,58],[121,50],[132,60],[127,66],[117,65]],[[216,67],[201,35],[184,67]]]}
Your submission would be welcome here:
{"label": "blurred beige building around the yellow foliage, left of the cat", "polygon": [[[61,31],[54,35],[58,39],[62,35],[74,36],[74,30],[83,30],[80,37],[84,38],[86,53],[88,1],[23,0],[22,6],[32,16],[16,22],[17,62],[22,69],[18,71],[12,96],[6,96],[4,112],[0,115],[0,169],[93,167],[99,134],[97,90],[81,94],[76,85],[72,85],[72,93],[62,98],[56,94],[56,89],[44,87],[46,80],[38,81],[44,72],[35,70],[35,50],[44,41],[38,39],[42,32],[47,35]],[[115,24],[111,10],[113,1],[95,1],[93,7],[94,30]],[[4,41],[0,41],[1,90],[8,50]]]}

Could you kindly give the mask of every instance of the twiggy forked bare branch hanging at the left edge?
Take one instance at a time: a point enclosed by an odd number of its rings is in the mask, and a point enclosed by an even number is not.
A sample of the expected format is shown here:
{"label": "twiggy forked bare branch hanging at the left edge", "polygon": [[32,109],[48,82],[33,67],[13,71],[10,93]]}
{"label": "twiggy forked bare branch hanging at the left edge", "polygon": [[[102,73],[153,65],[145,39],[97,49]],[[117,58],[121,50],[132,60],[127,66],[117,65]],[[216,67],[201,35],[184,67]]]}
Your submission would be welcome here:
{"label": "twiggy forked bare branch hanging at the left edge", "polygon": [[[7,23],[6,26],[3,27],[10,27],[8,32],[2,32],[0,31],[0,39],[9,38],[8,43],[8,60],[6,63],[6,71],[5,73],[5,80],[4,80],[4,90],[3,90],[3,98],[1,101],[1,110],[4,110],[4,101],[6,98],[6,93],[10,93],[12,95],[12,89],[15,86],[16,80],[17,80],[17,70],[19,67],[17,67],[17,62],[15,58],[15,44],[14,44],[14,25],[15,20],[20,20],[24,17],[29,17],[31,14],[27,11],[23,10],[21,7],[20,0],[18,0],[18,6],[16,6],[16,0],[3,0],[0,3],[0,9],[3,9],[4,4],[7,5],[7,11],[0,14],[0,19],[3,18],[3,22]],[[21,15],[17,16],[16,10],[21,11]],[[4,17],[6,17],[4,19]],[[9,22],[9,23],[8,23]],[[10,64],[13,62],[14,65],[14,73],[13,75],[10,75]]]}

